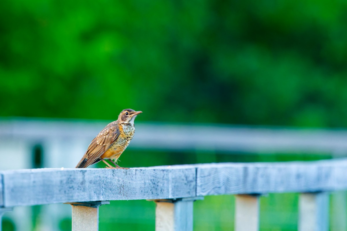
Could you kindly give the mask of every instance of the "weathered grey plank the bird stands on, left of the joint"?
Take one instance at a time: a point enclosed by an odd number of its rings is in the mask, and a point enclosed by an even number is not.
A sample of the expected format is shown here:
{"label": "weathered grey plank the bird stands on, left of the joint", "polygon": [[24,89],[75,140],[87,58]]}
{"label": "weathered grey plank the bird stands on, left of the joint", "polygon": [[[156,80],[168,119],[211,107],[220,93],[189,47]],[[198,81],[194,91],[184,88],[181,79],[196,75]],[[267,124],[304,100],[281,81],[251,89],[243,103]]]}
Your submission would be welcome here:
{"label": "weathered grey plank the bird stands on, left of the joint", "polygon": [[196,191],[194,168],[31,169],[4,171],[2,175],[5,207],[194,197]]}

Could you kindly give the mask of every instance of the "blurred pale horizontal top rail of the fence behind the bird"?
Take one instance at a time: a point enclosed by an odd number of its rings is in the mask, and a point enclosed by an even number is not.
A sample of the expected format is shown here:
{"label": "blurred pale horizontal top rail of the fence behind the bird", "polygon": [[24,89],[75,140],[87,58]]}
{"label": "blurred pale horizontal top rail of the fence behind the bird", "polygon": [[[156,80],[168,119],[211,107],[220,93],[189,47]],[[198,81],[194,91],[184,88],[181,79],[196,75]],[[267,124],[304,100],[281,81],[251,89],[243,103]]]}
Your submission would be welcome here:
{"label": "blurred pale horizontal top rail of the fence behind the bird", "polygon": [[[71,146],[81,146],[84,152],[85,144],[88,145],[109,122],[6,119],[0,120],[0,137],[31,143],[62,142],[65,145],[61,146],[68,146],[68,150],[71,150]],[[136,123],[135,126],[136,135],[130,148],[347,154],[346,130],[220,124]]]}

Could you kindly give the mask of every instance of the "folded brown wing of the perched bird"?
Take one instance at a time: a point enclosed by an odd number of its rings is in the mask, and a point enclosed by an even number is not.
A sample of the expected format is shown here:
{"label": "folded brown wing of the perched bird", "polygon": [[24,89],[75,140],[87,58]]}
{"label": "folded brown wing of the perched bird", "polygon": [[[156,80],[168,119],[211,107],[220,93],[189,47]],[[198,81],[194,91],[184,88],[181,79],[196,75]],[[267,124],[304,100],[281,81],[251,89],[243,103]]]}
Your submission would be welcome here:
{"label": "folded brown wing of the perched bird", "polygon": [[112,146],[118,136],[119,128],[117,124],[108,124],[89,144],[86,153],[76,168],[86,168],[93,163],[99,162],[98,159]]}

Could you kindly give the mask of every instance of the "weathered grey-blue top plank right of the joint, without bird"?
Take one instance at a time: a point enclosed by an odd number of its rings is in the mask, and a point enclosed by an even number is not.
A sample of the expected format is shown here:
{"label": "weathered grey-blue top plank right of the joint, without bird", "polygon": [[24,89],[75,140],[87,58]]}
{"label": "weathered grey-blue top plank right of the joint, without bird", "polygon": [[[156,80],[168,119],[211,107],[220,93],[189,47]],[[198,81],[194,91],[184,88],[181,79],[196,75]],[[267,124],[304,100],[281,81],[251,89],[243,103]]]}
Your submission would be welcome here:
{"label": "weathered grey-blue top plank right of the joint, without bird", "polygon": [[197,168],[197,196],[317,192],[347,188],[347,160],[220,163]]}

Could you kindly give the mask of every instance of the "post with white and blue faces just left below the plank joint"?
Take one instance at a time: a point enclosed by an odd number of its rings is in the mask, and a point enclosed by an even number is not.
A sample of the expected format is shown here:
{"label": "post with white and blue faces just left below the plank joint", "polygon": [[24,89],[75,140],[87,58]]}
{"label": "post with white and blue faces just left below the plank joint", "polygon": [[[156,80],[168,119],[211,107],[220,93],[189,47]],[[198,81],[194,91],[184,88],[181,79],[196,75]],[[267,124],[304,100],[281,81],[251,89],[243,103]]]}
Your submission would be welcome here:
{"label": "post with white and blue faces just left below the plank joint", "polygon": [[203,197],[154,200],[155,231],[193,231],[193,202]]}

